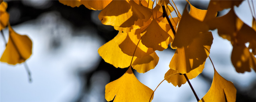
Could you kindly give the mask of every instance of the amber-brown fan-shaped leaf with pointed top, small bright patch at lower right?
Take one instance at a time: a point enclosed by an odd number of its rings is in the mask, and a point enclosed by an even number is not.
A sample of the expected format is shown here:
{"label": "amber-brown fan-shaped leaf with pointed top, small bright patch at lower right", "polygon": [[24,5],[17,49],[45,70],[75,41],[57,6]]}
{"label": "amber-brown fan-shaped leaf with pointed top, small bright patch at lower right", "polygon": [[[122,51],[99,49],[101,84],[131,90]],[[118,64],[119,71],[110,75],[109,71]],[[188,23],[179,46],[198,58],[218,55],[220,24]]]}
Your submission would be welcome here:
{"label": "amber-brown fan-shaped leaf with pointed top, small bright patch at lower right", "polygon": [[141,42],[146,47],[153,48],[153,50],[163,51],[172,42],[172,37],[153,19],[150,25],[141,33]]}

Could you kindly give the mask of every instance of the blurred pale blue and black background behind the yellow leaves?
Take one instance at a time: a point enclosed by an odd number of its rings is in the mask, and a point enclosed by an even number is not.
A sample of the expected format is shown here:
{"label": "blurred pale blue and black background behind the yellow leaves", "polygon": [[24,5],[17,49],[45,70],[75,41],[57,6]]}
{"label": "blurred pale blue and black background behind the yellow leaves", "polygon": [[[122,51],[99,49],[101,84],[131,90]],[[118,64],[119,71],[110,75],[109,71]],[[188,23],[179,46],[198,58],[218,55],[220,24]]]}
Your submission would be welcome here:
{"label": "blurred pale blue and black background behind the yellow leaves", "polygon": [[[26,34],[33,42],[31,57],[26,61],[32,73],[32,83],[23,64],[0,63],[0,101],[12,102],[104,102],[105,85],[121,77],[127,68],[115,68],[98,54],[98,48],[113,39],[118,31],[101,24],[100,11],[89,10],[84,5],[72,8],[58,0],[4,0],[8,3],[10,24],[14,31]],[[174,1],[182,14],[187,2]],[[199,9],[207,9],[209,0],[190,1]],[[250,1],[251,3],[251,1]],[[253,0],[254,8],[256,1]],[[188,7],[189,9],[189,7]],[[229,9],[220,11],[225,15]],[[235,7],[237,16],[252,26],[252,14],[248,2]],[[176,17],[175,12],[172,12]],[[230,55],[232,46],[228,40],[212,31],[211,58],[219,74],[232,81],[237,89],[237,101],[256,101],[256,73],[237,73]],[[8,40],[8,29],[4,29]],[[0,55],[5,44],[0,36]],[[248,45],[247,45],[248,46]],[[147,73],[137,73],[139,81],[154,90],[169,70],[175,50],[170,47],[156,51],[159,62]],[[210,89],[213,67],[209,59],[202,74],[190,80],[201,99]],[[196,101],[188,83],[175,87],[164,81],[156,90],[152,101]]]}

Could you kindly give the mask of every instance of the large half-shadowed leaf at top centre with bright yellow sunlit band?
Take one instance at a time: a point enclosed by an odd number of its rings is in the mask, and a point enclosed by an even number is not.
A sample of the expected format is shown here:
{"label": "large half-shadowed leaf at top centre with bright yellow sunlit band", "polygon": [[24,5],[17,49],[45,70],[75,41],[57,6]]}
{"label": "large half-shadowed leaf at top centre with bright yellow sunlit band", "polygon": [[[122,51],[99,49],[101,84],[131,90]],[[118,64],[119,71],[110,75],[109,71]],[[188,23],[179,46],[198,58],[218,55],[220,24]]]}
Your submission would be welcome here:
{"label": "large half-shadowed leaf at top centre with bright yellow sunlit band", "polygon": [[151,15],[152,12],[148,8],[134,1],[114,0],[100,12],[98,17],[104,25],[131,27],[134,21],[138,19],[148,21]]}

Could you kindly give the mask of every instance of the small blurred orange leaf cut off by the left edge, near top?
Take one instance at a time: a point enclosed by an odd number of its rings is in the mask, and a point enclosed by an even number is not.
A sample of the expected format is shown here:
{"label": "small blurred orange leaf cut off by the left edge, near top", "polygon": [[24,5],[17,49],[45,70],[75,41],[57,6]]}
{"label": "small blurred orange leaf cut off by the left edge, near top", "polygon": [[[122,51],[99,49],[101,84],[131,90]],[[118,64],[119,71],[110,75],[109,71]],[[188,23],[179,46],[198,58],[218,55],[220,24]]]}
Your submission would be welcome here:
{"label": "small blurred orange leaf cut off by the left edge, near top", "polygon": [[3,2],[0,5],[0,31],[4,29],[9,22],[9,13],[6,12],[7,3]]}

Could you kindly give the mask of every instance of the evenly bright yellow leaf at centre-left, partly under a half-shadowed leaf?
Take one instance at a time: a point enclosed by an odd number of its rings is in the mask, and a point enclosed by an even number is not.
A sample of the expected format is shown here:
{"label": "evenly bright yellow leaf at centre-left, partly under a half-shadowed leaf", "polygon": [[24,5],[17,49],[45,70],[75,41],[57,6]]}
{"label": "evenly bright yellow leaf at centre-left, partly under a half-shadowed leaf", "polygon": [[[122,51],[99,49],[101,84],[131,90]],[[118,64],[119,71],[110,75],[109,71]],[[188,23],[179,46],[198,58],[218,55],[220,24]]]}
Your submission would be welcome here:
{"label": "evenly bright yellow leaf at centre-left, partly under a half-shadowed leaf", "polygon": [[102,45],[98,49],[98,53],[105,62],[112,64],[116,68],[127,68],[132,61],[132,56],[124,54],[114,39]]}

